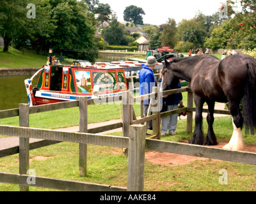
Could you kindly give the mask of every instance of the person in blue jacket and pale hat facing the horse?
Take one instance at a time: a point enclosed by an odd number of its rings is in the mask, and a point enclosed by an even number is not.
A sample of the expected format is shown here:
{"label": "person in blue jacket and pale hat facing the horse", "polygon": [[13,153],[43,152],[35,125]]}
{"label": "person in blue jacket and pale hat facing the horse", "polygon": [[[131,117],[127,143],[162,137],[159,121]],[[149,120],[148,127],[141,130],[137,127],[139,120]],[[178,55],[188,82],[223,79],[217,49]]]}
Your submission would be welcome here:
{"label": "person in blue jacket and pale hat facing the horse", "polygon": [[[149,56],[147,58],[147,62],[142,64],[142,68],[140,70],[139,78],[140,78],[140,96],[145,94],[152,93],[153,87],[156,86],[156,80],[154,77],[153,69],[156,67],[157,61],[154,56]],[[143,101],[143,113],[147,116],[148,106],[150,103],[150,99]],[[148,129],[152,129],[152,121],[149,122]]]}

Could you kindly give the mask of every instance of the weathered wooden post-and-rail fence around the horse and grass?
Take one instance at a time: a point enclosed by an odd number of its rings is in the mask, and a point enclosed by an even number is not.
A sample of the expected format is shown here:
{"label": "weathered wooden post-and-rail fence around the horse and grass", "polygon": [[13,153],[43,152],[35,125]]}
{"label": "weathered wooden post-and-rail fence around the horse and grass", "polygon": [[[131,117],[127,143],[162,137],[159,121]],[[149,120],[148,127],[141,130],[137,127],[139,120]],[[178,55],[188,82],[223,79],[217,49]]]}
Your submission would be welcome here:
{"label": "weathered wooden post-and-rail fence around the horse and grass", "polygon": [[[159,124],[163,116],[173,113],[188,111],[188,125],[187,130],[192,131],[193,119],[193,93],[189,87],[176,89],[172,91],[163,92],[164,95],[173,94],[177,92],[188,92],[188,107],[180,110],[172,110],[170,112],[160,113],[160,111],[153,112],[153,115],[143,117],[143,103],[141,103],[141,119],[136,119],[133,111],[134,102],[143,101],[143,99],[152,98],[159,102],[161,94],[159,92],[139,96],[134,98],[131,92],[124,92],[122,97],[116,97],[114,100],[106,99],[105,102],[118,101],[122,98],[123,103],[123,123],[113,124],[100,128],[88,129],[87,111],[88,105],[95,104],[95,100],[80,98],[79,101],[56,103],[52,105],[42,105],[29,107],[25,104],[20,104],[19,109],[0,111],[0,119],[6,117],[14,117],[19,115],[19,127],[0,126],[0,135],[19,136],[19,149],[11,150],[10,152],[0,151],[0,157],[19,153],[19,174],[0,173],[0,182],[20,185],[20,191],[28,191],[28,186],[45,187],[51,189],[60,189],[67,191],[143,191],[144,189],[144,159],[145,149],[155,150],[160,152],[169,152],[174,154],[183,154],[196,157],[207,157],[211,159],[220,159],[224,161],[233,161],[245,164],[256,164],[256,154],[250,152],[232,151],[225,149],[218,149],[214,147],[204,147],[200,145],[191,145],[177,142],[164,142],[161,140],[152,140],[146,138],[145,122],[153,120],[153,137],[159,138]],[[102,99],[103,100],[103,99]],[[98,101],[99,102],[99,101]],[[49,110],[57,110],[61,108],[71,108],[79,106],[79,133],[70,133],[65,131],[47,130],[29,128],[29,114],[45,112]],[[207,110],[204,110],[207,112]],[[228,111],[216,110],[216,113],[227,114]],[[124,137],[96,135],[109,129],[123,127]],[[37,138],[43,140],[39,145],[33,148],[43,147],[45,144],[49,145],[58,142],[74,142],[79,143],[79,173],[86,175],[87,168],[87,145],[102,145],[109,147],[120,147],[129,149],[126,154],[128,156],[128,179],[127,188],[115,187],[101,184],[91,184],[86,182],[76,182],[72,180],[52,179],[36,176],[35,184],[29,184],[27,180],[31,176],[27,175],[29,170],[29,138]],[[45,141],[47,143],[45,143]],[[31,147],[30,147],[31,149]]]}

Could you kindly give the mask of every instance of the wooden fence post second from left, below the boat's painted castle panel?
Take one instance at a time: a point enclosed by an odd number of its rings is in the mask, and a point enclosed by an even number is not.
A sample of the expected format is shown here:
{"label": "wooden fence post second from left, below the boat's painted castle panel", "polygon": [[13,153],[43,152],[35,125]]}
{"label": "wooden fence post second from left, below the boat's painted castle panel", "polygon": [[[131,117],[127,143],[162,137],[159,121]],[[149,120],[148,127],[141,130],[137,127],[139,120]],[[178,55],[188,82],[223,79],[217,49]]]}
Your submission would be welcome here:
{"label": "wooden fence post second from left, below the boat's painted castle panel", "polygon": [[[79,132],[88,132],[88,103],[87,97],[79,98]],[[87,174],[87,145],[79,143],[79,173],[81,176]]]}

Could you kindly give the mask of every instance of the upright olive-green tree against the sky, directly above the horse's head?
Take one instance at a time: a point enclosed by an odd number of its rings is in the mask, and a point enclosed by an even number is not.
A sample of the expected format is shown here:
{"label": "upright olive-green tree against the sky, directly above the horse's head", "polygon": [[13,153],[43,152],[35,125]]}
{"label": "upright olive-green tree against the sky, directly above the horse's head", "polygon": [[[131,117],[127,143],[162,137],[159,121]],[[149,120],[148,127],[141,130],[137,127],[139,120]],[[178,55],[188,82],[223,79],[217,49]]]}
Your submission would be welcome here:
{"label": "upright olive-green tree against the sky, directly above the horse's head", "polygon": [[177,24],[173,18],[168,18],[168,22],[162,25],[163,32],[161,34],[160,40],[163,46],[174,47],[177,43],[176,33]]}

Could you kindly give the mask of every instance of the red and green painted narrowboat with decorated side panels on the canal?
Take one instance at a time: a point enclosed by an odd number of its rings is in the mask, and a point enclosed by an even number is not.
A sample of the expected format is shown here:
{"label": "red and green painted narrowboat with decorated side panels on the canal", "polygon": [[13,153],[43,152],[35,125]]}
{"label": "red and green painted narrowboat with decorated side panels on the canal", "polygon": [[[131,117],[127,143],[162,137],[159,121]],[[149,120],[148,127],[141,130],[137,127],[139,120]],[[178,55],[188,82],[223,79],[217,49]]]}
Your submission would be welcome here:
{"label": "red and green painted narrowboat with decorated side panels on the canal", "polygon": [[[120,96],[127,91],[125,73],[139,71],[141,64],[132,62],[97,62],[95,64],[63,65],[51,57],[46,65],[25,80],[29,106],[63,101],[76,101],[79,97],[102,98]],[[78,63],[75,63],[78,64]],[[159,64],[158,69],[162,68]],[[32,82],[36,78],[37,84]]]}

